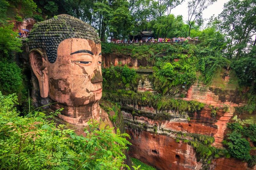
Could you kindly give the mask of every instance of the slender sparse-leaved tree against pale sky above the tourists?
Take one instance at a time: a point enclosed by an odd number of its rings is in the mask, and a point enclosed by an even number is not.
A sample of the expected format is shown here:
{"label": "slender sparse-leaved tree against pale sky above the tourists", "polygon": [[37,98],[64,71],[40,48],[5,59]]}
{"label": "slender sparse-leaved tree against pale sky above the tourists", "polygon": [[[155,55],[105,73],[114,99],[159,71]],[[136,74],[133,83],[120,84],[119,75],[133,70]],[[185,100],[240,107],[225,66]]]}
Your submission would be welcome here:
{"label": "slender sparse-leaved tree against pale sky above the tourists", "polygon": [[202,12],[217,0],[191,0],[188,2],[188,36],[191,29],[203,24]]}

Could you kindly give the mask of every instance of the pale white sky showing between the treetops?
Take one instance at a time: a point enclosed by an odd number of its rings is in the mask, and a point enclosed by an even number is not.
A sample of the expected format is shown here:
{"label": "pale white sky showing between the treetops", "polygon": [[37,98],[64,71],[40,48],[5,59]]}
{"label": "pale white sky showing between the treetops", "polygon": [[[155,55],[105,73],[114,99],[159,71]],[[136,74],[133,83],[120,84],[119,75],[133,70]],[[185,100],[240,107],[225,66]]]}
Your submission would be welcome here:
{"label": "pale white sky showing between the treetops", "polygon": [[[186,21],[188,19],[188,1],[185,0],[181,5],[174,8],[171,13],[175,16],[182,15],[183,20]],[[204,25],[207,24],[207,20],[215,14],[217,17],[223,10],[223,5],[229,0],[217,0],[217,2],[210,5],[206,10],[203,11]]]}

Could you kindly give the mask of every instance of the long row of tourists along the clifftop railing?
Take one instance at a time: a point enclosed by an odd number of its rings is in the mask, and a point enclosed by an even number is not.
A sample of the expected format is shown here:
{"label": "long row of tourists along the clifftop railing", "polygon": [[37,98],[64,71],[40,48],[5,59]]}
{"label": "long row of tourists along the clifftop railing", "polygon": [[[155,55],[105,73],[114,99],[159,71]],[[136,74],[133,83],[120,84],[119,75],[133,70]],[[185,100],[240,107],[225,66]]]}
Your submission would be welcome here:
{"label": "long row of tourists along the clifftop railing", "polygon": [[195,38],[191,38],[191,37],[174,37],[174,38],[158,38],[158,39],[154,39],[154,38],[151,38],[151,39],[145,39],[144,41],[143,40],[124,40],[124,39],[113,39],[111,42],[113,43],[116,43],[116,44],[119,44],[119,43],[142,43],[142,42],[181,42],[181,41],[186,41],[186,40],[196,40],[198,41],[198,37],[195,37]]}

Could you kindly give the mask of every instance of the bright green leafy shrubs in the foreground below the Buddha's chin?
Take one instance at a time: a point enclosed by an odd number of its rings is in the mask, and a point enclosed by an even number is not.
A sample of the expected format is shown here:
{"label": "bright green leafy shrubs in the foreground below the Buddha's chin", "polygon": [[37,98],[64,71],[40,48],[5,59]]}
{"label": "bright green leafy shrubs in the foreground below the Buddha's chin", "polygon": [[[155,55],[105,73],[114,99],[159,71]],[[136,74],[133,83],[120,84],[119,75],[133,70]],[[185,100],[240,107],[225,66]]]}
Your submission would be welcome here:
{"label": "bright green leafy shrubs in the foreground below the Buddha's chin", "polygon": [[[124,165],[128,134],[99,129],[91,120],[86,137],[65,125],[55,127],[52,117],[33,111],[20,117],[15,95],[0,92],[0,164],[3,169],[120,169]],[[49,122],[49,120],[52,120]]]}

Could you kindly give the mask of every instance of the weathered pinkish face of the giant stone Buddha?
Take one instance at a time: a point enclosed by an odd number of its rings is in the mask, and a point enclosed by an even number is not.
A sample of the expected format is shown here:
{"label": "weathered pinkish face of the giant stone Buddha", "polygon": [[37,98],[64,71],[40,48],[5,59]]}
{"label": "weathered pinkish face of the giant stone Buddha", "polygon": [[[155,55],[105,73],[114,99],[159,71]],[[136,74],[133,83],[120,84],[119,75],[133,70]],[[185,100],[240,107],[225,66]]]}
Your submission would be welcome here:
{"label": "weathered pinkish face of the giant stone Buddha", "polygon": [[[49,98],[53,101],[68,106],[83,106],[100,100],[102,96],[100,43],[96,44],[92,40],[80,38],[65,39],[58,46],[56,61],[50,63],[46,58],[42,65],[44,69],[42,74],[48,76],[43,79],[48,81]],[[40,77],[38,80],[40,81]],[[47,89],[40,87],[42,97],[46,96],[44,91],[47,93]]]}

